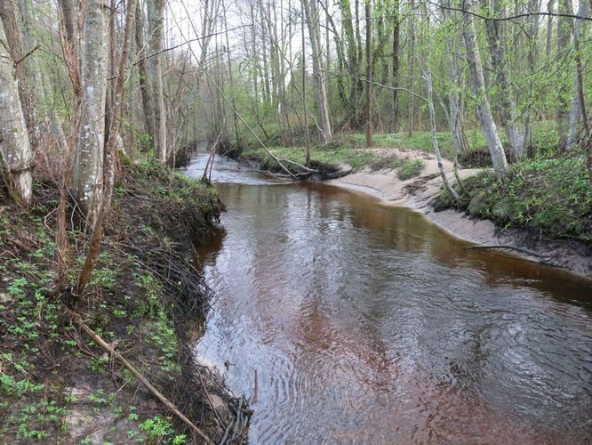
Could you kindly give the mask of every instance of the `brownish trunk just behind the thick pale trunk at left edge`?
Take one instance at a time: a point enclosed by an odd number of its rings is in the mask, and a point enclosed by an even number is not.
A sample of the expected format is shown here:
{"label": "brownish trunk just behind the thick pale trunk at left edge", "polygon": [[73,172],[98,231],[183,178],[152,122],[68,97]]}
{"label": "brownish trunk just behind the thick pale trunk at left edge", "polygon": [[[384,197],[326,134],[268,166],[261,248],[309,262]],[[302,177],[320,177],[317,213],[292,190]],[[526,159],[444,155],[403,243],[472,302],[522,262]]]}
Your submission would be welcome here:
{"label": "brownish trunk just behind the thick pale trunk at left edge", "polygon": [[27,55],[28,49],[22,33],[23,17],[17,0],[2,0],[0,15],[4,22],[4,32],[12,60],[19,62],[16,65],[16,75],[19,80],[20,106],[25,116],[31,148],[35,152],[41,142],[41,132],[37,125],[35,95],[29,85],[28,60],[22,60]]}

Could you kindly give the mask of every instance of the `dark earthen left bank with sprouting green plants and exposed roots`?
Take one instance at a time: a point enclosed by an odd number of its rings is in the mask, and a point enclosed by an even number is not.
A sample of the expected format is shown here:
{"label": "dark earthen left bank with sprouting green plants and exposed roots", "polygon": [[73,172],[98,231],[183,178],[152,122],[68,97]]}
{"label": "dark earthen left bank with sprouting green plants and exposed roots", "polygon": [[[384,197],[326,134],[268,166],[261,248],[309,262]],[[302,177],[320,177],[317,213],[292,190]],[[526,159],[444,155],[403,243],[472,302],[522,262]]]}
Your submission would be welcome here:
{"label": "dark earthen left bank with sprouting green plants and exposed roots", "polygon": [[[57,184],[36,183],[28,211],[3,193],[0,442],[203,441],[73,314],[212,441],[240,438],[244,401],[196,365],[188,334],[199,331],[208,307],[194,243],[204,241],[222,210],[215,190],[161,166],[124,167],[92,281],[80,298],[56,285]],[[68,240],[67,281],[74,283],[88,238],[69,226]]]}

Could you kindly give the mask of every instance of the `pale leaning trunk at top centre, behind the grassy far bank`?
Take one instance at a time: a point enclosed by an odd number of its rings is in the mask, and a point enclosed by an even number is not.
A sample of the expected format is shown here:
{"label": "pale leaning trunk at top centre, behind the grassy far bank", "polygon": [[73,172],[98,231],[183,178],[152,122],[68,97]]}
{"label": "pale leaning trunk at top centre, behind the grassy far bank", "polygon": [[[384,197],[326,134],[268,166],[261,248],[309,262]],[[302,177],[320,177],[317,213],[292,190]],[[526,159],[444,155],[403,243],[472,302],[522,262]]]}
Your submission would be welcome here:
{"label": "pale leaning trunk at top centre, behind the grassy far bank", "polygon": [[331,117],[327,102],[326,77],[323,69],[323,49],[321,45],[321,27],[317,0],[302,0],[307,16],[308,34],[312,45],[313,76],[316,79],[316,96],[319,110],[319,123],[324,143],[332,142]]}

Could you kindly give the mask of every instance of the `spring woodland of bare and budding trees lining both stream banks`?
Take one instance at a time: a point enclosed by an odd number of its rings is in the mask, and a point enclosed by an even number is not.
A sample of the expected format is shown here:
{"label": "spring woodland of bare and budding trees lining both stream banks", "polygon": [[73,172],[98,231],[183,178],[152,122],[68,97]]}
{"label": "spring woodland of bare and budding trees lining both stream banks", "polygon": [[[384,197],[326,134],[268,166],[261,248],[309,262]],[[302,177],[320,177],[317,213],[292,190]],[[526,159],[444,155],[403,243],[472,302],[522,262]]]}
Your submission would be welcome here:
{"label": "spring woodland of bare and budding trees lining both stream banks", "polygon": [[[441,206],[589,247],[591,5],[2,0],[0,437],[62,437],[68,416],[50,418],[47,407],[65,404],[64,387],[80,382],[49,384],[55,374],[42,369],[75,360],[77,349],[91,360],[85,369],[115,373],[117,383],[101,377],[105,388],[164,380],[160,391],[142,386],[142,403],[156,397],[174,418],[146,417],[132,428],[138,437],[240,440],[244,425],[220,420],[212,384],[191,401],[166,378],[187,365],[179,313],[200,319],[207,305],[201,279],[187,278],[195,267],[180,245],[203,242],[222,209],[209,184],[174,171],[201,142],[220,154],[254,154],[297,180],[326,165],[394,162],[372,147],[420,150],[440,167]],[[484,174],[451,181],[443,158]],[[181,281],[188,285],[179,290]],[[192,312],[194,291],[201,303]],[[114,311],[126,314],[119,324],[100,315]],[[102,358],[114,356],[116,336],[131,336],[124,320],[137,333],[152,330],[152,355],[164,361],[114,369]],[[167,391],[178,397],[170,401]],[[246,404],[215,391],[246,422]],[[133,419],[135,408],[113,393]],[[112,408],[102,399],[94,408]],[[22,421],[32,406],[45,417]]]}

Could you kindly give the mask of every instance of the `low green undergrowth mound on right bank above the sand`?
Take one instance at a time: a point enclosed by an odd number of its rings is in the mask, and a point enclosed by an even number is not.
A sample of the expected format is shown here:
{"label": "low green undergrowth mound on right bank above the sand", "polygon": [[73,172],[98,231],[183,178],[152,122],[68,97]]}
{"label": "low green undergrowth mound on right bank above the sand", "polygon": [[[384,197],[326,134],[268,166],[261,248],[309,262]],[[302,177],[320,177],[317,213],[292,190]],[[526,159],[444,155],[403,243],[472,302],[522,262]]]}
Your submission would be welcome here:
{"label": "low green undergrowth mound on right bank above the sand", "polygon": [[[592,243],[592,187],[584,157],[526,161],[512,167],[508,180],[487,172],[464,185],[470,194],[467,214],[503,228]],[[436,208],[448,207],[456,204],[442,190]]]}

